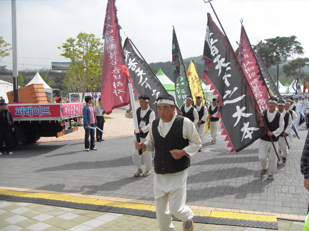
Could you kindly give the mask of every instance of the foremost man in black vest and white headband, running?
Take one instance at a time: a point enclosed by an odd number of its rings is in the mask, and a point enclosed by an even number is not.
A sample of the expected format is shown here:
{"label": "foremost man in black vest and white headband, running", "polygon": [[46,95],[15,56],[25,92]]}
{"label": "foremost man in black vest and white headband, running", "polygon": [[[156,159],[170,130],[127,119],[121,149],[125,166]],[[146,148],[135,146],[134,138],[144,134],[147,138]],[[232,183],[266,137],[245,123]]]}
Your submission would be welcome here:
{"label": "foremost man in black vest and white headband, running", "polygon": [[155,151],[154,195],[157,221],[161,231],[174,231],[171,214],[184,222],[185,231],[193,230],[193,212],[185,205],[190,157],[201,147],[192,121],[177,115],[172,95],[157,99],[159,119],[152,122],[146,142],[135,142],[136,149]]}

